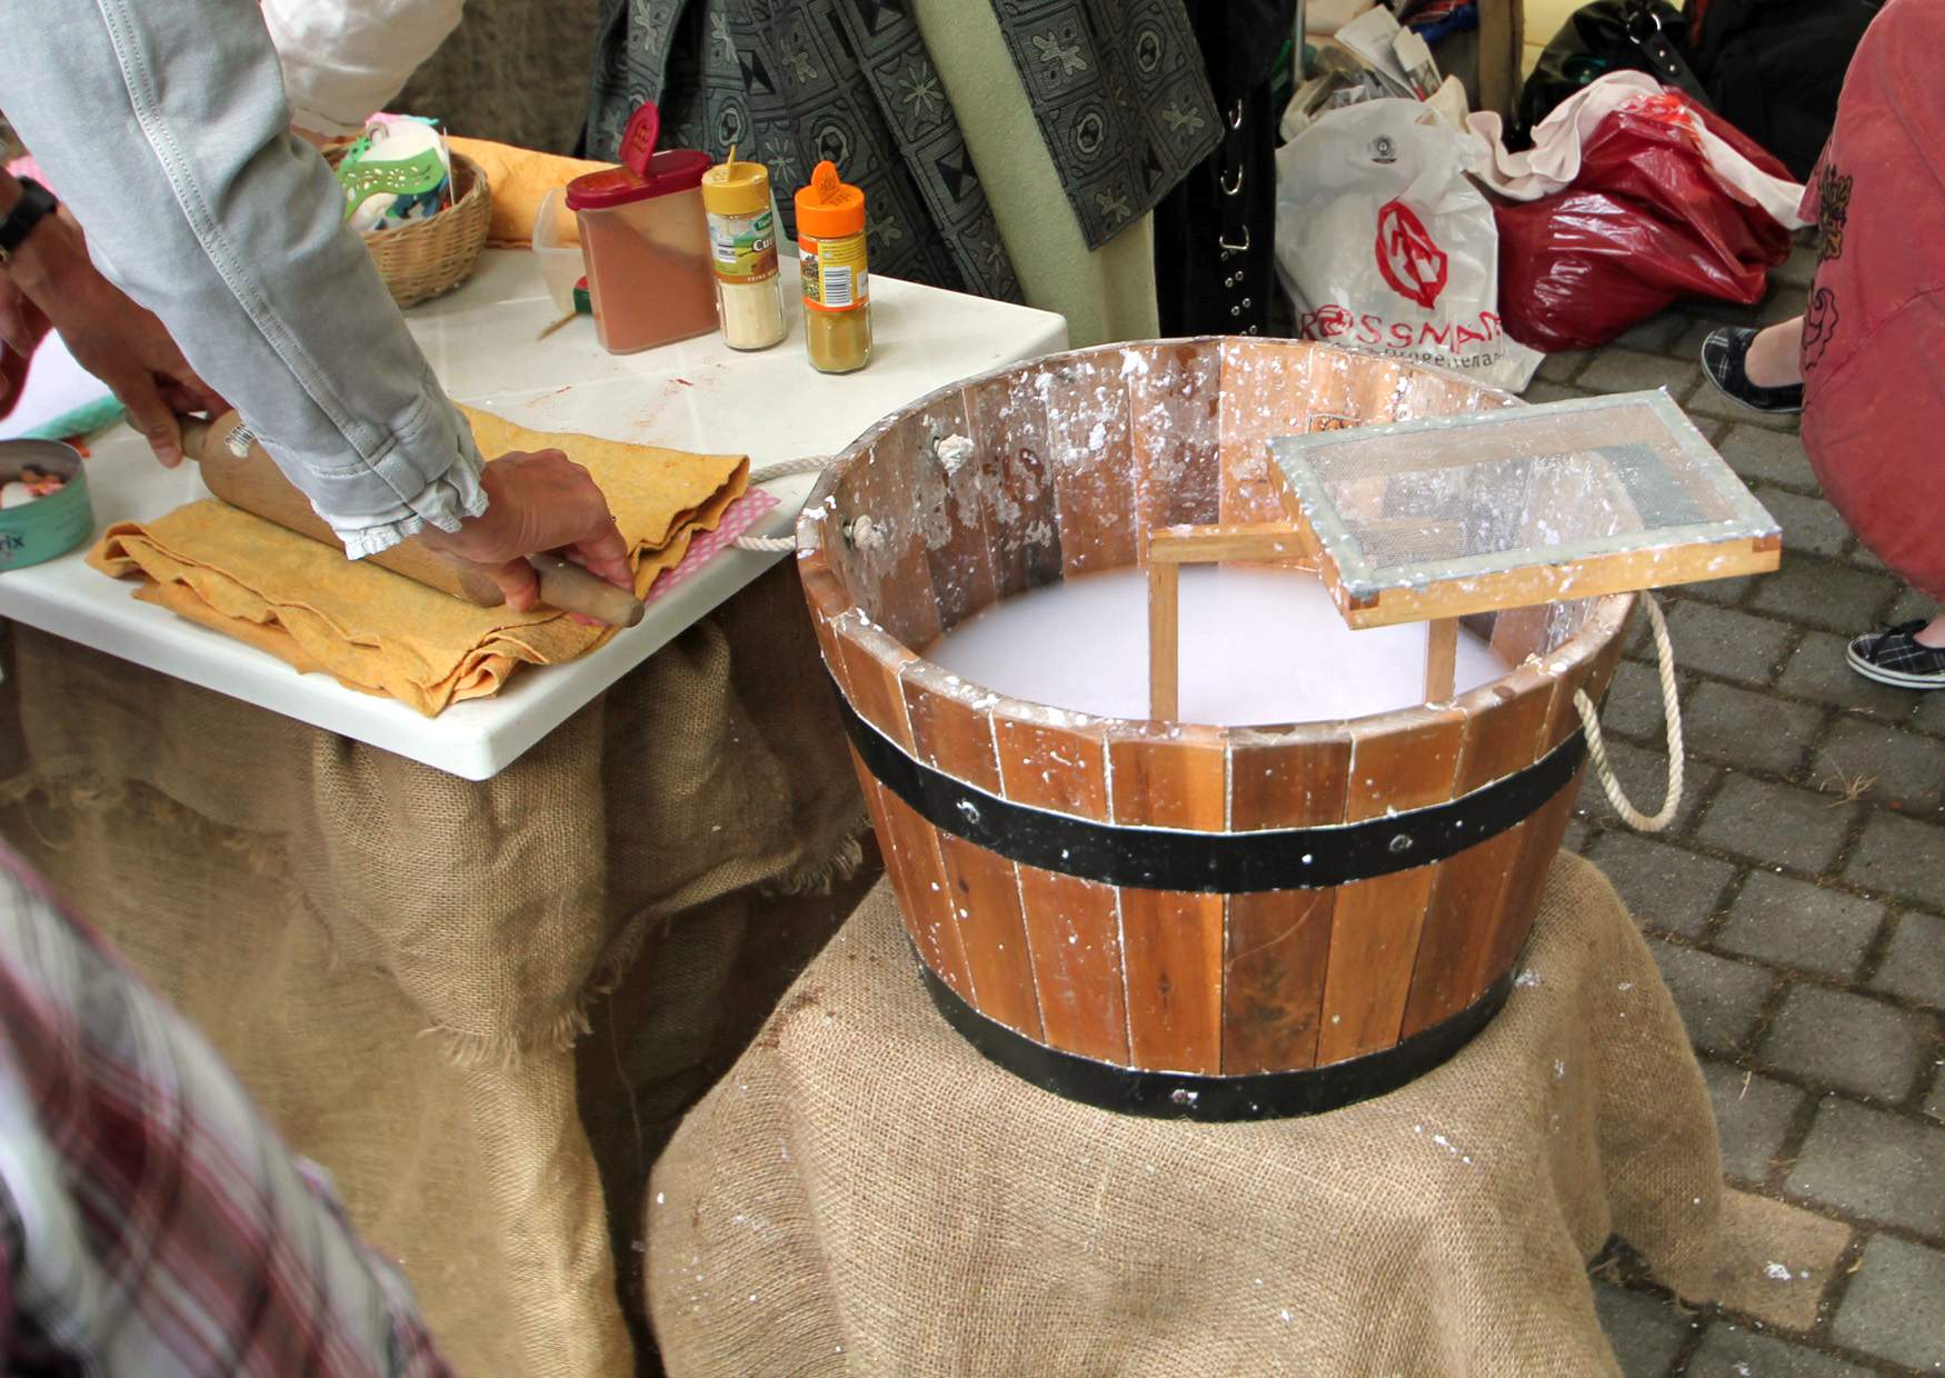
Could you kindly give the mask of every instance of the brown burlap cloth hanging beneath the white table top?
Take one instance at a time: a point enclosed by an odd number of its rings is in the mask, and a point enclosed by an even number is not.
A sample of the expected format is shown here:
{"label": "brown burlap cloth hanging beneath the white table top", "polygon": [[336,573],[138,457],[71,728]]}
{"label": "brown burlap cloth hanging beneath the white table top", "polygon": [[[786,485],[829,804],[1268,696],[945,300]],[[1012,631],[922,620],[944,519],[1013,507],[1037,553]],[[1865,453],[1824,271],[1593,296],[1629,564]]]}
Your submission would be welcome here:
{"label": "brown burlap cloth hanging beneath the white table top", "polygon": [[724,983],[790,945],[753,906],[864,832],[794,569],[486,783],[27,628],[10,659],[0,832],[335,1174],[447,1355],[632,1374],[650,1158]]}

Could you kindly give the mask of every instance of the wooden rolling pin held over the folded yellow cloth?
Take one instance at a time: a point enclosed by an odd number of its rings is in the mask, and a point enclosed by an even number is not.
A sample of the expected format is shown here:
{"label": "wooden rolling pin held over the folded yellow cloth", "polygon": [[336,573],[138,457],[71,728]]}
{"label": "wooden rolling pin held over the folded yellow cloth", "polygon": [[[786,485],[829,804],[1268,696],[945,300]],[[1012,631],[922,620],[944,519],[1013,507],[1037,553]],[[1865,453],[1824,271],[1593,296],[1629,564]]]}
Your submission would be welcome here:
{"label": "wooden rolling pin held over the folded yellow cloth", "polygon": [[[243,455],[231,449],[231,441],[249,439],[243,418],[235,412],[224,412],[212,422],[183,416],[179,424],[183,428],[183,453],[202,468],[202,482],[212,494],[231,507],[241,507],[286,531],[296,531],[300,536],[342,548],[331,527],[311,509],[311,501],[292,488],[255,439],[249,441]],[[506,603],[500,585],[486,573],[440,560],[416,540],[403,540],[375,556],[366,556],[366,560],[480,608]],[[527,556],[527,564],[541,575],[541,603],[552,608],[580,612],[584,618],[609,626],[634,626],[642,620],[642,601],[634,593],[587,573],[572,560],[543,552]]]}

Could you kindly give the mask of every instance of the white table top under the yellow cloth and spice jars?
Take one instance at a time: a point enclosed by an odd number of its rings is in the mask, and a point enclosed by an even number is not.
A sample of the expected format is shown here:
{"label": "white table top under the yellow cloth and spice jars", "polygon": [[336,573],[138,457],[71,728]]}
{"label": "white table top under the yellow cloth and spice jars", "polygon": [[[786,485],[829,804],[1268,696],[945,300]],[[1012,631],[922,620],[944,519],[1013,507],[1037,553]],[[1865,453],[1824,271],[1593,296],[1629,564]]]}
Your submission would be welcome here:
{"label": "white table top under the yellow cloth and spice jars", "polygon": [[[749,453],[753,466],[836,453],[889,412],[955,379],[1066,346],[1046,311],[871,278],[871,365],[825,377],[803,358],[796,262],[784,262],[790,338],[737,354],[722,336],[617,358],[580,317],[545,340],[558,313],[523,251],[486,251],[459,292],[407,313],[447,391],[537,430],[584,431],[704,453]],[[95,534],[113,521],[161,517],[208,496],[194,465],[169,472],[132,431],[91,445]],[[770,484],[782,501],[751,534],[788,534],[813,476]],[[467,779],[490,779],[624,672],[708,616],[780,556],[724,550],[654,603],[640,626],[568,665],[525,667],[504,694],[422,717],[358,694],[138,603],[89,569],[86,546],[0,573],[0,616],[109,651],[247,704],[342,733]]]}

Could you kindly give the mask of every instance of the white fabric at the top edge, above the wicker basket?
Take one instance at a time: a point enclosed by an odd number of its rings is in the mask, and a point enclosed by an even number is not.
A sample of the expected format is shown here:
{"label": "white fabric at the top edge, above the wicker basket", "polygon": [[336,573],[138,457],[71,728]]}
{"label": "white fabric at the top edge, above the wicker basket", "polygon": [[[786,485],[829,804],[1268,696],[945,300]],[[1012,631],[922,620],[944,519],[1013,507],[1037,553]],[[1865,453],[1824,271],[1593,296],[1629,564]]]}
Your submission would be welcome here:
{"label": "white fabric at the top edge, above the wicker basket", "polygon": [[356,134],[459,23],[465,0],[263,0],[300,130]]}

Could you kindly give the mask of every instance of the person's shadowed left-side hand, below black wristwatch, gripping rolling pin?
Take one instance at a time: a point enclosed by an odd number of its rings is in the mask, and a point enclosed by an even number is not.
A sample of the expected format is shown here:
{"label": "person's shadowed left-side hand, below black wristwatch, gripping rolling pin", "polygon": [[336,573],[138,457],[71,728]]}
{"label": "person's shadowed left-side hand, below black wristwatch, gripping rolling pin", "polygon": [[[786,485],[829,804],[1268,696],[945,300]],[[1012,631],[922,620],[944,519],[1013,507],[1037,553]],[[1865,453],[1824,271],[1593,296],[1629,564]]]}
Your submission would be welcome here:
{"label": "person's shadowed left-side hand, below black wristwatch, gripping rolling pin", "polygon": [[183,461],[177,414],[230,410],[189,367],[161,321],[101,276],[66,210],[33,227],[14,251],[8,276],[25,297],[0,313],[8,348],[31,352],[33,325],[51,323],[74,362],[128,408],[128,420],[163,465],[173,468]]}

